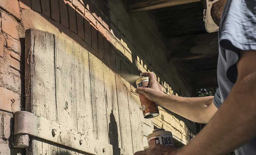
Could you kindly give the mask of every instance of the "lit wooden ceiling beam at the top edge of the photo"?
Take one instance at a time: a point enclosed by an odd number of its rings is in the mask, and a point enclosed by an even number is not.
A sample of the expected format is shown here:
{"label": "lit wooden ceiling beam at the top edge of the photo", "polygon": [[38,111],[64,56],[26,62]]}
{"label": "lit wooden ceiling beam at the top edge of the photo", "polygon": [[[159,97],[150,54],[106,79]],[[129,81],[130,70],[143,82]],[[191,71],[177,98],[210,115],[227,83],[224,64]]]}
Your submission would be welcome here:
{"label": "lit wooden ceiling beam at the top edge of the photo", "polygon": [[138,2],[128,6],[131,12],[139,12],[146,10],[154,10],[160,8],[166,8],[169,6],[182,5],[187,3],[199,2],[201,0],[147,0],[144,2]]}

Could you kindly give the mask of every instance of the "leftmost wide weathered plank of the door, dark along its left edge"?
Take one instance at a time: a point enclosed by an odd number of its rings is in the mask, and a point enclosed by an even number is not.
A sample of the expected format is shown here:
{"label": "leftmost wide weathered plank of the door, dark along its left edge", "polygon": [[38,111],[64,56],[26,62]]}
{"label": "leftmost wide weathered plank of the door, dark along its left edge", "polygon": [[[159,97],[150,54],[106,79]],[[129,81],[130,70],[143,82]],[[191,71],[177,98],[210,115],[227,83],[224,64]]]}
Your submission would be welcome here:
{"label": "leftmost wide weathered plank of the door, dark along its left edge", "polygon": [[[25,94],[26,111],[57,122],[55,104],[54,36],[30,29],[26,31]],[[49,154],[49,145],[32,138],[32,154]]]}

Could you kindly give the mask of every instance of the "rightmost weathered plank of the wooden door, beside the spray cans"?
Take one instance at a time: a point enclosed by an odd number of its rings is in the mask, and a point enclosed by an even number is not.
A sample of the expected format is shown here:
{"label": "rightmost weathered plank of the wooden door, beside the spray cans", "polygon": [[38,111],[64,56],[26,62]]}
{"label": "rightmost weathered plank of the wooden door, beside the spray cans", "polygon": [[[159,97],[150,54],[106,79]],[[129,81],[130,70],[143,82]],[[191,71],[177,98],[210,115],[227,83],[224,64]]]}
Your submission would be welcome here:
{"label": "rightmost weathered plank of the wooden door, beside the spray cans", "polygon": [[142,125],[140,121],[140,102],[138,102],[138,96],[128,91],[129,111],[131,120],[133,151],[137,152],[143,150],[143,136]]}

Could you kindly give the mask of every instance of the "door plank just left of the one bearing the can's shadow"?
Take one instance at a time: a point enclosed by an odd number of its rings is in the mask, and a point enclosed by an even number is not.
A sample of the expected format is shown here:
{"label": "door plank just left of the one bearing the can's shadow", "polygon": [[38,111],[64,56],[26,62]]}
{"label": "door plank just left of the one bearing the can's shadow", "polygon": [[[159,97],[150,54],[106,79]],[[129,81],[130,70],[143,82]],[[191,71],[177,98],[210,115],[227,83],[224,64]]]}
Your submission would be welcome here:
{"label": "door plank just left of the one bearing the can's shadow", "polygon": [[102,62],[90,53],[89,62],[94,121],[96,118],[98,131],[97,134],[95,134],[96,132],[94,131],[94,136],[96,136],[95,138],[101,140],[102,142],[108,143],[108,125]]}

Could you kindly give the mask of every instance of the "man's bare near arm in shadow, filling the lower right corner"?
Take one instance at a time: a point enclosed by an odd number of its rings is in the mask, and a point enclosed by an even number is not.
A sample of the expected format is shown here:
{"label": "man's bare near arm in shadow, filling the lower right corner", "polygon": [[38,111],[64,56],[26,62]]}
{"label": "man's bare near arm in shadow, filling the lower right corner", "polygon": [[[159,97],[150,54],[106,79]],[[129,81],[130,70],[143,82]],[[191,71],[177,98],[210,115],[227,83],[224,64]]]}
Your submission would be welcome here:
{"label": "man's bare near arm in shadow, filling the lower right corner", "polygon": [[238,79],[204,129],[178,155],[228,153],[256,136],[256,51],[241,51]]}

